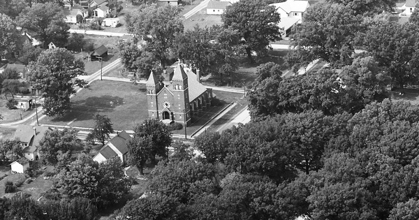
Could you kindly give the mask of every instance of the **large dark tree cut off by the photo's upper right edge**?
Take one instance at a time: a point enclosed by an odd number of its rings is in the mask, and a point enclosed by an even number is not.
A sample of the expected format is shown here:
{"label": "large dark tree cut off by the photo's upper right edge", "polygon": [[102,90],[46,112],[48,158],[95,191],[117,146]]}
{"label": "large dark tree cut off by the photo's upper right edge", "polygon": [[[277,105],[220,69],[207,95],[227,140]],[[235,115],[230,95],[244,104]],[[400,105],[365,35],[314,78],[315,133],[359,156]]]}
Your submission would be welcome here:
{"label": "large dark tree cut off by the photo's upper right edge", "polygon": [[391,77],[392,87],[418,82],[419,41],[416,25],[378,22],[363,36],[362,45]]}

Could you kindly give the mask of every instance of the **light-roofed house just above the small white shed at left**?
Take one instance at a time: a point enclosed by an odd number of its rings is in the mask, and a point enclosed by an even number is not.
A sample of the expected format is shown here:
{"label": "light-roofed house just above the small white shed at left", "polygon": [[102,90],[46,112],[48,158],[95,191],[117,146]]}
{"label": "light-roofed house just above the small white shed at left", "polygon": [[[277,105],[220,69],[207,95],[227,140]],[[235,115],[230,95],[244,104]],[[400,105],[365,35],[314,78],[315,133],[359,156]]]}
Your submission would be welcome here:
{"label": "light-roofed house just above the small white shed at left", "polygon": [[20,124],[17,127],[14,138],[20,140],[26,159],[37,161],[41,157],[38,146],[47,131],[52,131],[52,129],[46,126],[30,126],[26,124]]}

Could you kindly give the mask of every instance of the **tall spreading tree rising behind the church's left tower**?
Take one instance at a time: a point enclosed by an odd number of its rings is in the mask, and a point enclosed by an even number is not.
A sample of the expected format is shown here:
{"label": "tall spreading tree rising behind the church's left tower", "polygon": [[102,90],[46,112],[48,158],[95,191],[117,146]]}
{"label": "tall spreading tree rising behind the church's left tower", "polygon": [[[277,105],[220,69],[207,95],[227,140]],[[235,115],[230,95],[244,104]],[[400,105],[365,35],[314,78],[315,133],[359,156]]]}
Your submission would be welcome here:
{"label": "tall spreading tree rising behind the church's left tower", "polygon": [[142,5],[136,13],[126,17],[128,32],[147,43],[145,51],[151,52],[163,68],[175,44],[175,36],[184,29],[179,13],[180,8],[170,5]]}

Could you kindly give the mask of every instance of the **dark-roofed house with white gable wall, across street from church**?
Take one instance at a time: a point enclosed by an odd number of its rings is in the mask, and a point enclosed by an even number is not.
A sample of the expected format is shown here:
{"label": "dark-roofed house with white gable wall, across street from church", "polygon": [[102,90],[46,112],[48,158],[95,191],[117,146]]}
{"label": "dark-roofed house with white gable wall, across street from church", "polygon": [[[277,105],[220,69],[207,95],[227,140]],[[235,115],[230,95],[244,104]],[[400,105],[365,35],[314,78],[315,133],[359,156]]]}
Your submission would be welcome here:
{"label": "dark-roofed house with white gable wall, across street from church", "polygon": [[118,133],[99,150],[98,154],[93,157],[93,160],[102,163],[114,156],[119,156],[122,163],[126,163],[126,154],[128,154],[126,142],[128,140],[131,140],[131,136],[126,131]]}

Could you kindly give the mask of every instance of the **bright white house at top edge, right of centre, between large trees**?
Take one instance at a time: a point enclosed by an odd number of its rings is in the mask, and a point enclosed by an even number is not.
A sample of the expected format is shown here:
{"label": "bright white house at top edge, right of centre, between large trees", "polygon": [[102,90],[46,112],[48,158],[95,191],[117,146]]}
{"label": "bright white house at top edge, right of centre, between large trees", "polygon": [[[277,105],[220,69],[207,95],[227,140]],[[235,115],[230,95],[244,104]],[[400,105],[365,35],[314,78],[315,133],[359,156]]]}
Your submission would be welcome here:
{"label": "bright white house at top edge, right of centre, between large trees", "polygon": [[287,0],[280,3],[272,3],[270,6],[277,8],[277,12],[281,15],[281,21],[278,26],[284,29],[284,36],[288,36],[291,28],[295,24],[301,24],[303,15],[307,8],[310,7],[309,1]]}

